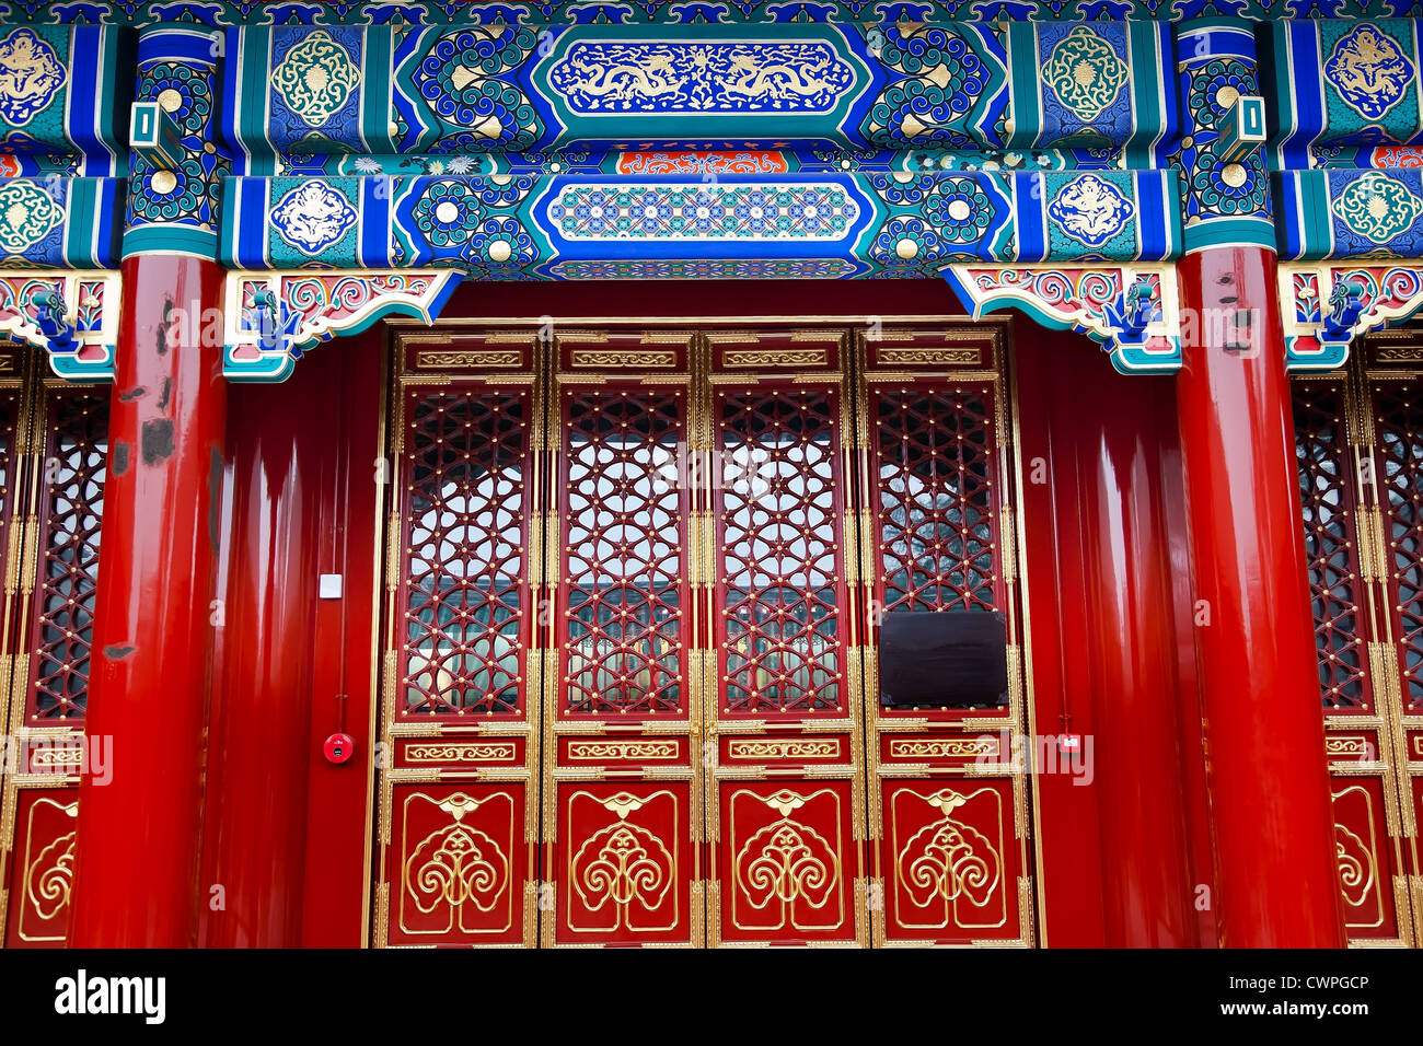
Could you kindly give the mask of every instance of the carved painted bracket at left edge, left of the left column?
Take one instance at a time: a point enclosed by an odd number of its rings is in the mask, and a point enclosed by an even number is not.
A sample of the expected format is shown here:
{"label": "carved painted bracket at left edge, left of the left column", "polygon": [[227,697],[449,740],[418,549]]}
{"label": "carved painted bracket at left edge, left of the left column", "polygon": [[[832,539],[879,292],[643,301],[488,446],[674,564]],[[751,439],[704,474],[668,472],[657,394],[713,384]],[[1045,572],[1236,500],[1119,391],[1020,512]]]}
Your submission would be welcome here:
{"label": "carved painted bracket at left edge, left of the left column", "polygon": [[44,349],[67,381],[112,381],[121,297],[117,272],[0,273],[0,333]]}

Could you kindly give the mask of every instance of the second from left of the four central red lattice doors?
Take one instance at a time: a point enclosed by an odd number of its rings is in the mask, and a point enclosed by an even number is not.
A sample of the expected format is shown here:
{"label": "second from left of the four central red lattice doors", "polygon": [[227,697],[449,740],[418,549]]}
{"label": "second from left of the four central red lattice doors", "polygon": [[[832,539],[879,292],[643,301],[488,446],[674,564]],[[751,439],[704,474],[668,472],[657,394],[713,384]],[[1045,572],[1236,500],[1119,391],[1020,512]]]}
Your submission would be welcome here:
{"label": "second from left of the four central red lattice doors", "polygon": [[687,332],[556,339],[544,942],[700,945]]}

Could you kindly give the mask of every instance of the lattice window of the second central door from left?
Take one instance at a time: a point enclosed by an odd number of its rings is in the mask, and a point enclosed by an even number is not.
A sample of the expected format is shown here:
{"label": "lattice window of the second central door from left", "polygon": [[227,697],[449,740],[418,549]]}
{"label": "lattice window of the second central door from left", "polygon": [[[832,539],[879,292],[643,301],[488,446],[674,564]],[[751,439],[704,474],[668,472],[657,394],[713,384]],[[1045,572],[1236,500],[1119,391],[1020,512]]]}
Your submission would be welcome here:
{"label": "lattice window of the second central door from left", "polygon": [[683,700],[684,396],[565,397],[564,692],[571,713]]}

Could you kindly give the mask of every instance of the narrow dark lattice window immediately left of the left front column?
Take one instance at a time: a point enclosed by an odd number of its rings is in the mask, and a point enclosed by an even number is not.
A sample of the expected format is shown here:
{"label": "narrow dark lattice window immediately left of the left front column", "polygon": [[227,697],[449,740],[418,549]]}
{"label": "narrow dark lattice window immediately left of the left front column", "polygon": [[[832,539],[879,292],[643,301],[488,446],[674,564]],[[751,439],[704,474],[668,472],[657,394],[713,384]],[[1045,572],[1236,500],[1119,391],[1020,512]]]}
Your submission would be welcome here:
{"label": "narrow dark lattice window immediately left of the left front column", "polygon": [[30,659],[30,714],[36,720],[84,714],[107,458],[108,390],[51,391]]}

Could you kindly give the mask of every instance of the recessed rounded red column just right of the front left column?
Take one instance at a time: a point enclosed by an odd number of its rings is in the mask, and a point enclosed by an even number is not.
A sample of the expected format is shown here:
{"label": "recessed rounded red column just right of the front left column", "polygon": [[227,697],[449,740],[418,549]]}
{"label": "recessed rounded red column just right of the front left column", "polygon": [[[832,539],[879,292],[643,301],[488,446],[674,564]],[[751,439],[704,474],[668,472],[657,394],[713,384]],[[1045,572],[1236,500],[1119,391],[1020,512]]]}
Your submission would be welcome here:
{"label": "recessed rounded red column just right of the front left column", "polygon": [[334,356],[306,360],[282,384],[228,394],[226,622],[203,848],[209,946],[300,941],[316,544],[337,408],[319,393]]}

